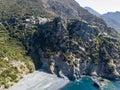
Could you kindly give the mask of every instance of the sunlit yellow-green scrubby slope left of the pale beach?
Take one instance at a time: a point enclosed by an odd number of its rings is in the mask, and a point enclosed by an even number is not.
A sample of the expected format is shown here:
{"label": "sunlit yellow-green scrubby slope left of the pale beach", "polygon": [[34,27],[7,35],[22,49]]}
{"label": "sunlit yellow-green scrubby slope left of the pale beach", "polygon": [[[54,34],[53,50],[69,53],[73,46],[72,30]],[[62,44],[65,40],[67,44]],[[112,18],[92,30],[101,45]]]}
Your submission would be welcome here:
{"label": "sunlit yellow-green scrubby slope left of the pale beach", "polygon": [[32,71],[32,59],[26,56],[23,45],[0,26],[0,86],[8,88],[23,77],[23,73]]}

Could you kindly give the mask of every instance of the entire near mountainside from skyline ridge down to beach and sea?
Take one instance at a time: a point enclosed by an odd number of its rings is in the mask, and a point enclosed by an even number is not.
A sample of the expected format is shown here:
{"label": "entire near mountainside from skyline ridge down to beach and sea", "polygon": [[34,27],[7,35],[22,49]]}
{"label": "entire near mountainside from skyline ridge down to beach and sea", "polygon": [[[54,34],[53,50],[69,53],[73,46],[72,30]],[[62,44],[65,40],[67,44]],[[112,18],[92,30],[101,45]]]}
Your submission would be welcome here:
{"label": "entire near mountainside from skyline ridge down to beach and sea", "polygon": [[[0,57],[7,60],[1,60],[1,67],[8,73],[0,78],[1,88],[12,85],[5,84],[11,76],[14,83],[17,75],[24,76],[34,67],[70,80],[83,74],[120,80],[119,34],[75,0],[0,1],[1,31],[5,32]],[[21,63],[24,68],[19,68]]]}

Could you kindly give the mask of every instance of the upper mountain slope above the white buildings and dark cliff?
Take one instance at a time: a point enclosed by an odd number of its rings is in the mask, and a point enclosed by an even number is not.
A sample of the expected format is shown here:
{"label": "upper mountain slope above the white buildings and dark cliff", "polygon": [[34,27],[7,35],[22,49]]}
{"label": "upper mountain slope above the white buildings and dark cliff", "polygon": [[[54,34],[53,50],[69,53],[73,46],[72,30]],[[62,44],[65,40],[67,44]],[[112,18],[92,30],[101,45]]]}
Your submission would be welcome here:
{"label": "upper mountain slope above the white buildings and dark cliff", "polygon": [[[2,5],[7,3],[10,3],[10,2],[8,0],[6,0],[6,2],[3,1]],[[4,12],[2,14],[4,15],[2,16],[5,16],[5,17],[2,17],[2,19],[4,21],[4,18],[9,17],[7,22],[8,24],[9,24],[9,20],[11,19],[15,21],[18,20],[18,22],[24,23],[24,19],[30,18],[31,16],[35,16],[35,17],[41,16],[41,17],[49,17],[49,18],[60,16],[64,19],[73,18],[73,19],[85,20],[91,25],[99,26],[99,28],[101,29],[101,32],[107,32],[112,36],[117,36],[117,32],[115,32],[115,30],[113,30],[112,28],[111,29],[108,28],[106,23],[102,19],[90,14],[87,10],[80,7],[80,5],[75,0],[60,0],[60,1],[58,0],[36,0],[36,1],[13,0],[13,3],[11,3],[10,5],[8,5],[3,9],[4,9]],[[8,12],[9,14],[7,14],[5,11]],[[22,13],[19,11],[21,11]]]}

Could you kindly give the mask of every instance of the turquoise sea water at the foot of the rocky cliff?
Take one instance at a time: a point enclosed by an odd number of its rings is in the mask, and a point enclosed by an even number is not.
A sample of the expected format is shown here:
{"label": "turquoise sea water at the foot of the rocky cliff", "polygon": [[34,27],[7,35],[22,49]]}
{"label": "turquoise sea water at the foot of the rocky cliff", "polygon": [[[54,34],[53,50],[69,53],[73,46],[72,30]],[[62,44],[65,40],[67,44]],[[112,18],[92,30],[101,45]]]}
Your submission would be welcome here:
{"label": "turquoise sea water at the foot of the rocky cliff", "polygon": [[[79,81],[71,82],[61,90],[99,90],[93,85],[90,78],[82,78]],[[102,90],[120,90],[120,82],[110,82]]]}

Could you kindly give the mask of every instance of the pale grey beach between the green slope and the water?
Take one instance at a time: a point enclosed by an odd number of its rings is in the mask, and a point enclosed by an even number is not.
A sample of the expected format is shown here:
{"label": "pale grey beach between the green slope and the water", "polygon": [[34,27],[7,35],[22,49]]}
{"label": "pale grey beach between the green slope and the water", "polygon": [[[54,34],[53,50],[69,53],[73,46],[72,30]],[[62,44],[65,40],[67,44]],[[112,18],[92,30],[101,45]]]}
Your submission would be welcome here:
{"label": "pale grey beach between the green slope and the water", "polygon": [[59,90],[69,82],[67,77],[59,78],[39,70],[26,75],[8,90]]}

